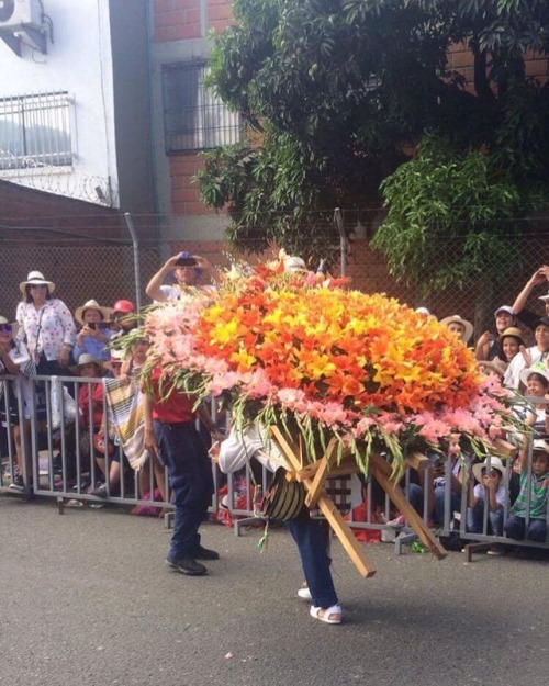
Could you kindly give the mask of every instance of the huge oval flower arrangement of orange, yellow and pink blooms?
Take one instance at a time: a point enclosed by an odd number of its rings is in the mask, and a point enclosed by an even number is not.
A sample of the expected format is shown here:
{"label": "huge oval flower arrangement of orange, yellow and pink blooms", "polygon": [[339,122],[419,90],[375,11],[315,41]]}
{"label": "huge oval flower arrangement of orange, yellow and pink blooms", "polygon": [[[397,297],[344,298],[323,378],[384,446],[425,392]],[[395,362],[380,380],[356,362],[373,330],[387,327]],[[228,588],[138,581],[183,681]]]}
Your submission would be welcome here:
{"label": "huge oval flower arrangement of orange, yellow and pink blooms", "polygon": [[335,438],[365,472],[376,451],[399,476],[410,451],[484,454],[513,421],[511,394],[435,318],[280,263],[233,267],[145,326],[148,370],[198,403],[221,398],[238,427],[300,431],[310,460]]}

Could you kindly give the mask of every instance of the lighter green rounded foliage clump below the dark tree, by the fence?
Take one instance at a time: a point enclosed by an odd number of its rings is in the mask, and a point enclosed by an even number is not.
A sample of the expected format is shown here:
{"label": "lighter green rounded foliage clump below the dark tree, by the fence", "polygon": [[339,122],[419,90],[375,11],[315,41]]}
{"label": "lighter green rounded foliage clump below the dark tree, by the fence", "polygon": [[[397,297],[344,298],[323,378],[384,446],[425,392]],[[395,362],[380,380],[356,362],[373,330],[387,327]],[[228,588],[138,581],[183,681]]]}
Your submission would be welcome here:
{"label": "lighter green rounded foliage clump below the dark tree, by the fence", "polygon": [[[496,156],[426,136],[415,159],[382,183],[388,214],[372,241],[399,280],[424,292],[505,281],[520,262],[524,193]],[[530,193],[529,210],[544,198]],[[450,248],[450,249],[449,249]],[[450,261],[440,263],[440,255]]]}

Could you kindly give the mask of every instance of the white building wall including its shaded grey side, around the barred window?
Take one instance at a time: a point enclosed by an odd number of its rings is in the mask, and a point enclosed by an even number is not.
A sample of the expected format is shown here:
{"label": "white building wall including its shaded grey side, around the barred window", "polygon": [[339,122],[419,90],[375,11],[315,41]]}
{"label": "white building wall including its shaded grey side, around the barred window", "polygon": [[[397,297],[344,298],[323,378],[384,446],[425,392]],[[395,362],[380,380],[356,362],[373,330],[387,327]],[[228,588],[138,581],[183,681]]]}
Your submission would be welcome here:
{"label": "white building wall including its shaded grey side, around the barred window", "polygon": [[47,0],[47,54],[0,42],[0,98],[67,91],[72,166],[0,172],[16,183],[155,212],[150,145],[148,0]]}

